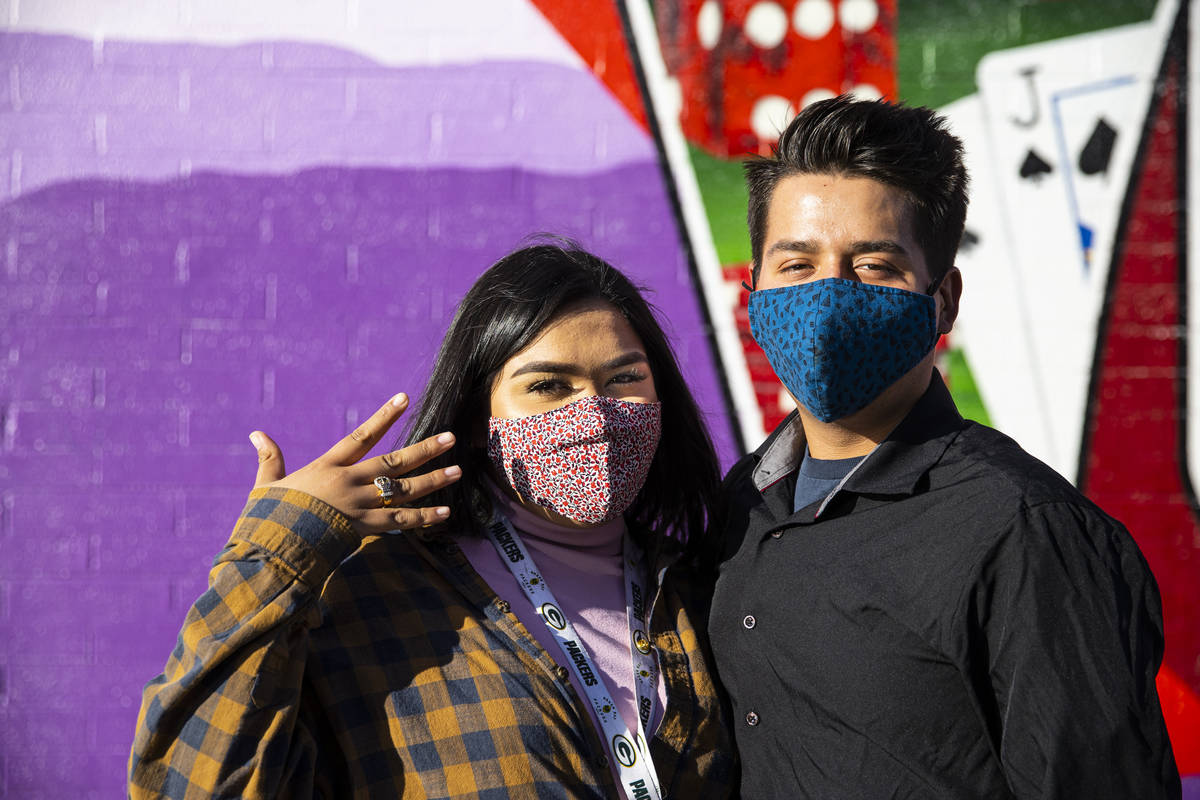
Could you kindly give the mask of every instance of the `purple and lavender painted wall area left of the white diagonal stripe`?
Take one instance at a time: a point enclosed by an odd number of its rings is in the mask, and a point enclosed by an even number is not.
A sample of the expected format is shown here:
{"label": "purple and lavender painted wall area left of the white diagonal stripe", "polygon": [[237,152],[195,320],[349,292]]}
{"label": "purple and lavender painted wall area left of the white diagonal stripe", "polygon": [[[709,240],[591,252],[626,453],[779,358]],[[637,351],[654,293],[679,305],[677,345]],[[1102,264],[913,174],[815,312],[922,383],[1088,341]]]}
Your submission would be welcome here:
{"label": "purple and lavender painted wall area left of the white diagonal stripe", "polygon": [[653,143],[587,72],[0,32],[5,74],[0,795],[122,793],[246,434],[299,467],[419,393],[458,297],[532,231],[653,290],[733,457]]}

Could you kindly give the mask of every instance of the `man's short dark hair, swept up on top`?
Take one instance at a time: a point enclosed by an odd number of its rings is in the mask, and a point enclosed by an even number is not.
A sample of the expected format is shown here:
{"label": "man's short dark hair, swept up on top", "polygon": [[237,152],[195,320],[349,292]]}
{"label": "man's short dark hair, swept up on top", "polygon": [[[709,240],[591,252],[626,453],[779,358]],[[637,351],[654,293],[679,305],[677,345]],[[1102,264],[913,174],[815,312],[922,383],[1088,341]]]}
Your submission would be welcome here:
{"label": "man's short dark hair, swept up on top", "polygon": [[770,156],[751,157],[744,170],[756,285],[770,198],[788,175],[870,178],[899,188],[908,197],[930,277],[940,279],[954,266],[967,215],[962,142],[928,108],[847,95],[812,103],[796,115]]}

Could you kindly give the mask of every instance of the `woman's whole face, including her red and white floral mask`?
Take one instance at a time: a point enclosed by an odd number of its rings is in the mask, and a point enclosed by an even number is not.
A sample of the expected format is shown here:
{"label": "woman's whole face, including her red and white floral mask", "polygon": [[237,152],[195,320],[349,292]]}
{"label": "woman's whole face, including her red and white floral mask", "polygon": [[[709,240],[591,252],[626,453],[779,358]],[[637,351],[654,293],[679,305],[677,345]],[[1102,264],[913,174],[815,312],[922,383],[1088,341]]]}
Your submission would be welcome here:
{"label": "woman's whole face, including her red and white floral mask", "polygon": [[492,386],[488,456],[521,499],[581,525],[624,513],[662,429],[641,338],[614,307],[551,320]]}

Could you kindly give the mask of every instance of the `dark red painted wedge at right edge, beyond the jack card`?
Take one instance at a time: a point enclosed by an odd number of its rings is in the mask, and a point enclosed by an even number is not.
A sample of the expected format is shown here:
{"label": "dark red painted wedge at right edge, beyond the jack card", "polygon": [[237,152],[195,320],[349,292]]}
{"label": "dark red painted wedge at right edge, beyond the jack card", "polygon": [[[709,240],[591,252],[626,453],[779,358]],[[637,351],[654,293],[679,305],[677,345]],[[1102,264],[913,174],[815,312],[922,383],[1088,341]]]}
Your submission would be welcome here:
{"label": "dark red painted wedge at right edge, beyond the jack card", "polygon": [[1130,211],[1114,254],[1106,325],[1081,485],[1136,539],[1163,595],[1164,714],[1181,771],[1200,771],[1200,523],[1183,459],[1183,199],[1181,65],[1165,78],[1130,178]]}

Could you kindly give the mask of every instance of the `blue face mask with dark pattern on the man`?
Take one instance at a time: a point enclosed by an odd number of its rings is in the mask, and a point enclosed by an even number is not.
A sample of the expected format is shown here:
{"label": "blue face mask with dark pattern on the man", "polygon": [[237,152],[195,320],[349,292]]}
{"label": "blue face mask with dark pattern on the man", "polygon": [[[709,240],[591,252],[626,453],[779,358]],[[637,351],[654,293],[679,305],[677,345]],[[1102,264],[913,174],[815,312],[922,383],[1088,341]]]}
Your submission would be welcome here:
{"label": "blue face mask with dark pattern on the man", "polygon": [[929,354],[937,306],[928,294],[826,278],[751,291],[750,332],[792,396],[832,422]]}

